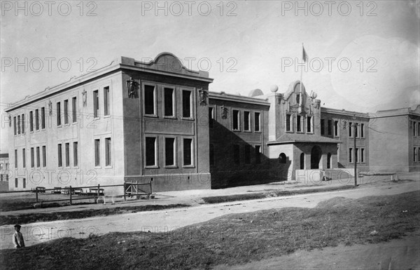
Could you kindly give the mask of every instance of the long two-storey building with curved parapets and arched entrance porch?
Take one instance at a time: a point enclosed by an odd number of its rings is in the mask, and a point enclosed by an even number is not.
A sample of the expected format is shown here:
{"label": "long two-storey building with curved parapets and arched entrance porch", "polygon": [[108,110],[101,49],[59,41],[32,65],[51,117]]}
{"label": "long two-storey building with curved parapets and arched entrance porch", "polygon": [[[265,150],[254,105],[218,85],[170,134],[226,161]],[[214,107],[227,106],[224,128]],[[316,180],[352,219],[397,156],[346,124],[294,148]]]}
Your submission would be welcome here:
{"label": "long two-storey building with curved parapets and arched entrance porch", "polygon": [[[420,168],[419,107],[362,114],[321,107],[300,81],[248,96],[209,92],[212,81],[171,53],[122,57],[12,104],[9,188],[138,181],[169,191],[299,180],[354,163]],[[395,139],[398,151],[386,143]]]}

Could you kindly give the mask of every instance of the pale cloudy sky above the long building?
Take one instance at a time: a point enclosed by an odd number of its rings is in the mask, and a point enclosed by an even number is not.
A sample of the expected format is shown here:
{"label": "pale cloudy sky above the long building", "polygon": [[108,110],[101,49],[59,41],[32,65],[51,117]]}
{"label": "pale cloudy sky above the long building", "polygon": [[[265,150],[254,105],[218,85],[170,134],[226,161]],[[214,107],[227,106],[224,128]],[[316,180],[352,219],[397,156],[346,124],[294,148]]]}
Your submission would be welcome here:
{"label": "pale cloudy sky above the long building", "polygon": [[[0,152],[10,103],[109,65],[174,53],[209,90],[279,92],[323,107],[420,103],[419,1],[1,1]],[[302,60],[302,44],[307,53]],[[301,72],[302,71],[302,72]]]}

